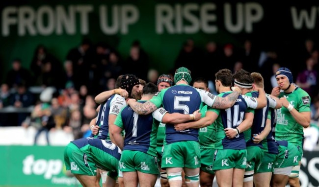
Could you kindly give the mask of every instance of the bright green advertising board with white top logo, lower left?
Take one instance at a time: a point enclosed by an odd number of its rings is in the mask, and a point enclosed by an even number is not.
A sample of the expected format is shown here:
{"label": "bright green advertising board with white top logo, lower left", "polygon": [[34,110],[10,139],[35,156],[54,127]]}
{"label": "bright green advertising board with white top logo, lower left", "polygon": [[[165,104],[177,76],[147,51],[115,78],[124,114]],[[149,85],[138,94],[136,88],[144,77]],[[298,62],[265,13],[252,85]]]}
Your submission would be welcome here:
{"label": "bright green advertising board with white top logo, lower left", "polygon": [[80,186],[66,175],[62,146],[0,146],[0,187]]}

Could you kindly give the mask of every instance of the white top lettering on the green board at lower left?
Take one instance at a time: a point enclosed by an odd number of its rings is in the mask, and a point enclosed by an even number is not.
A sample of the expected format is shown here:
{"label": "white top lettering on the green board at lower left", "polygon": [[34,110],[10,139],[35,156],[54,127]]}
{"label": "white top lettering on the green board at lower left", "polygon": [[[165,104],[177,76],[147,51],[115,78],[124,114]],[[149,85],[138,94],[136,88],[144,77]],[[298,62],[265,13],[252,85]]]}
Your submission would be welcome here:
{"label": "white top lettering on the green board at lower left", "polygon": [[34,160],[34,155],[28,155],[23,160],[23,173],[26,175],[43,175],[45,179],[51,179],[62,171],[63,163],[61,160]]}

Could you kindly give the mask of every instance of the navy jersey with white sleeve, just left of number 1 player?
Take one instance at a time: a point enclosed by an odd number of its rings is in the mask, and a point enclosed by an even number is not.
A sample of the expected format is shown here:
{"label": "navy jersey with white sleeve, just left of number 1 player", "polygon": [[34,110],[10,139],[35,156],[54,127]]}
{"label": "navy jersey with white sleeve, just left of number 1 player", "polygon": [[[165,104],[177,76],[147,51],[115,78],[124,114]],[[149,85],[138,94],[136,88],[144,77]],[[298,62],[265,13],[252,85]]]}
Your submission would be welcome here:
{"label": "navy jersey with white sleeve, just left of number 1 player", "polygon": [[96,125],[100,126],[98,135],[95,138],[110,140],[108,132],[108,115],[118,115],[127,104],[125,98],[119,94],[111,95],[105,103],[101,104],[100,111],[96,120]]}

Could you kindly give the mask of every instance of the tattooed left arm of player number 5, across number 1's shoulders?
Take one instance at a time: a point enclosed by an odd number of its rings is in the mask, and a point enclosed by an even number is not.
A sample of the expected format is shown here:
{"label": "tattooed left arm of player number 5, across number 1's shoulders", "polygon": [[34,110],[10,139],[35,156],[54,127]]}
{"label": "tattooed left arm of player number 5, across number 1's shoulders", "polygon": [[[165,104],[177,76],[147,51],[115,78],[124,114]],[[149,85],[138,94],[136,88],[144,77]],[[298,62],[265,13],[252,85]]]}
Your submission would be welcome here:
{"label": "tattooed left arm of player number 5, across number 1's shoulders", "polygon": [[150,101],[145,103],[139,103],[135,99],[129,99],[128,105],[136,112],[138,115],[148,115],[157,109],[156,105]]}

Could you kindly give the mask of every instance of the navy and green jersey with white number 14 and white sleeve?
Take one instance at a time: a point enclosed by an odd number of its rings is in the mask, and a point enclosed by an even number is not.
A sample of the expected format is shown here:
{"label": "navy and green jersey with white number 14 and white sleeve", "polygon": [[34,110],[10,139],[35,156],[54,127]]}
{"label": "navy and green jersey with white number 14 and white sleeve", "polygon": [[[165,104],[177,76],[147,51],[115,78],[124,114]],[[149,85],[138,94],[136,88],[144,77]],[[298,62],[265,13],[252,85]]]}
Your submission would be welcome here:
{"label": "navy and green jersey with white number 14 and white sleeve", "polygon": [[[232,91],[220,93],[218,96],[225,97],[231,94]],[[208,107],[208,111],[213,111],[218,114],[215,120],[216,135],[215,135],[215,149],[245,149],[246,142],[243,133],[239,133],[235,138],[229,139],[225,135],[225,128],[233,128],[239,126],[244,120],[245,113],[251,112],[250,108],[257,107],[257,100],[245,95],[239,95],[235,104],[226,109],[219,110]]]}

